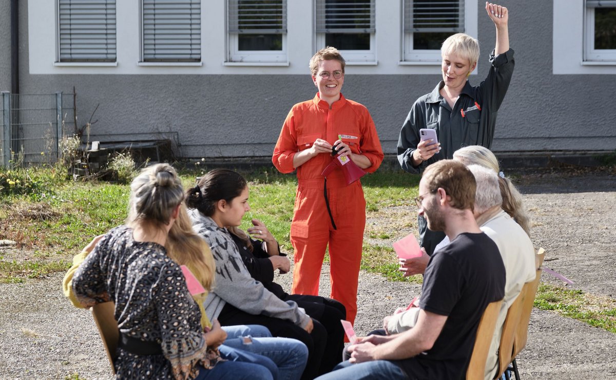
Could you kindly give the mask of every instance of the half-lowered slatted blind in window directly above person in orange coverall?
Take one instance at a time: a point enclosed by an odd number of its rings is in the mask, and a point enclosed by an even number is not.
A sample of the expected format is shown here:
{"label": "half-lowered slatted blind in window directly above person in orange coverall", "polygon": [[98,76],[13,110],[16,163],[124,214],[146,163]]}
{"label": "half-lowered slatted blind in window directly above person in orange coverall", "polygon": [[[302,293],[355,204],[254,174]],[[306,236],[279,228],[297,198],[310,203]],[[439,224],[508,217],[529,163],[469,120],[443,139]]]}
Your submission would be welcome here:
{"label": "half-lowered slatted blind in window directly above person in orange coverall", "polygon": [[373,33],[375,0],[317,0],[317,33]]}

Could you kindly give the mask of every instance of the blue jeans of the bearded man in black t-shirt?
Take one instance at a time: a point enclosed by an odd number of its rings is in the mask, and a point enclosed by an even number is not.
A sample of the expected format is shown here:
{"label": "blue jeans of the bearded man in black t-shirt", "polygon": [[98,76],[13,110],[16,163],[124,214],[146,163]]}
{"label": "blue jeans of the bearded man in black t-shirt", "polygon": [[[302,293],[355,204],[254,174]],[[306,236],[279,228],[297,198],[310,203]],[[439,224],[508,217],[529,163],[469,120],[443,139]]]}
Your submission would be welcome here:
{"label": "blue jeans of the bearded man in black t-shirt", "polygon": [[407,375],[402,368],[388,360],[375,360],[373,362],[363,362],[352,364],[342,362],[330,373],[319,376],[317,380],[339,380],[339,379],[383,379],[383,380],[406,380]]}

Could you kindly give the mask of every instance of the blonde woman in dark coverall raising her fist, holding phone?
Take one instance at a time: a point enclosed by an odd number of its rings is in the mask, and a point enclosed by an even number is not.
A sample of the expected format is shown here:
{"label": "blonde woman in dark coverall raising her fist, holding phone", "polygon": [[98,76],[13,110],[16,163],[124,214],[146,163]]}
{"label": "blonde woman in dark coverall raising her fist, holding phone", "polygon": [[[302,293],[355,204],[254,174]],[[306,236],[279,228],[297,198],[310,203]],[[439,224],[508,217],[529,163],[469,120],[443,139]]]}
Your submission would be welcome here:
{"label": "blonde woman in dark coverall raising her fist, holding phone", "polygon": [[[496,27],[488,75],[479,86],[469,83],[479,59],[479,41],[458,33],[443,42],[443,80],[415,101],[400,130],[398,161],[405,171],[421,174],[429,164],[453,158],[453,152],[466,145],[492,146],[496,113],[509,88],[514,59],[509,48],[509,10],[485,2],[485,11]],[[435,129],[439,143],[422,141],[420,129]],[[421,246],[431,255],[445,235],[428,230],[423,217],[418,217],[418,224]]]}

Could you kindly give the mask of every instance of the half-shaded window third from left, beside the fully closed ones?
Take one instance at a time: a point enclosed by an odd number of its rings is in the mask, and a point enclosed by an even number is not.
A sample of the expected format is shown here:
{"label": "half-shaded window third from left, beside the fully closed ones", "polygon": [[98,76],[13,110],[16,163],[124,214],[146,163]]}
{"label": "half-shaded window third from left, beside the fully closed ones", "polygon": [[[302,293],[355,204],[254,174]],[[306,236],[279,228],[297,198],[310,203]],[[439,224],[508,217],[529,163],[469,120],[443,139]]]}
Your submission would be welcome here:
{"label": "half-shaded window third from left, beside the fully closed ones", "polygon": [[229,62],[286,62],[286,0],[229,0]]}

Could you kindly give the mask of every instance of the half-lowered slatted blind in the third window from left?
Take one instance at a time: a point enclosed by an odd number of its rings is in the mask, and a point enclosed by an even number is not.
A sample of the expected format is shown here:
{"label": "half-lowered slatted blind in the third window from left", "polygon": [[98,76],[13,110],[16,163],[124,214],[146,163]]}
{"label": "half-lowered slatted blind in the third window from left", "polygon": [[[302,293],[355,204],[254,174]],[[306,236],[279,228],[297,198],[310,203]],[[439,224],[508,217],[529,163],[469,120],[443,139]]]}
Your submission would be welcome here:
{"label": "half-lowered slatted blind in the third window from left", "polygon": [[286,33],[286,0],[229,0],[229,33]]}

